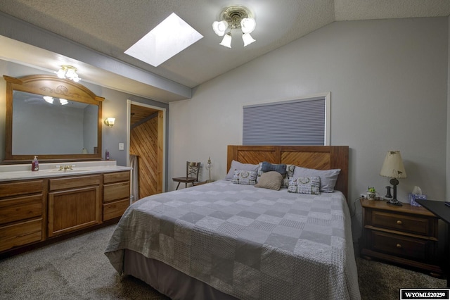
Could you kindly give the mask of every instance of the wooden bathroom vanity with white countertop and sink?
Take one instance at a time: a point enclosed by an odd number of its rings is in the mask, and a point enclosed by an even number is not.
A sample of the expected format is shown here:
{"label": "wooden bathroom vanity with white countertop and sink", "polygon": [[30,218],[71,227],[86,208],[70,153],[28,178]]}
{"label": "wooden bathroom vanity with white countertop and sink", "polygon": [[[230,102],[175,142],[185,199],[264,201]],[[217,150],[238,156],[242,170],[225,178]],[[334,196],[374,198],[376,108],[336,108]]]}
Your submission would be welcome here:
{"label": "wooden bathroom vanity with white countertop and sink", "polygon": [[129,167],[115,161],[39,167],[0,165],[0,255],[113,223],[129,206]]}

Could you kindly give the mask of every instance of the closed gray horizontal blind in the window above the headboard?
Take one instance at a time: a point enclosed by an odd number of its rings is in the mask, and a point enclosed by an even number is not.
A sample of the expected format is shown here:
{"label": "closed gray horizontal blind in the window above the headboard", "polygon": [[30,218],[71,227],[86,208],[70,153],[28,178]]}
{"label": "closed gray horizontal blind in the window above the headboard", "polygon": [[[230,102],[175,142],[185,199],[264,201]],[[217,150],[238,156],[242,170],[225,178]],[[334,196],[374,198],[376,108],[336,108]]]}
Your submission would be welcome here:
{"label": "closed gray horizontal blind in the window above the headboard", "polygon": [[324,145],[326,97],[243,107],[243,145]]}

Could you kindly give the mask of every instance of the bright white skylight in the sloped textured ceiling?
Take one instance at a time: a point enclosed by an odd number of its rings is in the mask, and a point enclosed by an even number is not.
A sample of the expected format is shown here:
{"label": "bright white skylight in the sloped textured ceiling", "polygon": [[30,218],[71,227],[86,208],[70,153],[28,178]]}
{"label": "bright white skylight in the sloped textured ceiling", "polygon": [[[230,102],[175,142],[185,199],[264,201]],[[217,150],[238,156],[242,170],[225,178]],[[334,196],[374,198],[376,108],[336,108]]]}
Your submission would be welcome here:
{"label": "bright white skylight in the sloped textured ceiling", "polygon": [[203,35],[172,13],[124,53],[158,67],[202,37]]}

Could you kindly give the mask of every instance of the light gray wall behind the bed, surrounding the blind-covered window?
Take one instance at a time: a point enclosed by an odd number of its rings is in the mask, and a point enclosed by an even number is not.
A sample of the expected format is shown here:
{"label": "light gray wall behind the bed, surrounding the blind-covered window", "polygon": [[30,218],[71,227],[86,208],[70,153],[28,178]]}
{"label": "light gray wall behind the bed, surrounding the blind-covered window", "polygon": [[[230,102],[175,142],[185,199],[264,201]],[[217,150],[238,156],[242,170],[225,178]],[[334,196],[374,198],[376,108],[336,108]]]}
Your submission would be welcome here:
{"label": "light gray wall behind the bed, surrounding the blind-covered window", "polygon": [[448,18],[335,22],[210,80],[169,106],[169,177],[186,159],[211,156],[214,179],[223,178],[226,145],[241,143],[243,105],[331,92],[330,144],[350,147],[354,238],[359,194],[373,186],[384,195],[389,185],[379,175],[388,150],[401,151],[408,175],[399,200],[416,185],[444,199],[448,39]]}

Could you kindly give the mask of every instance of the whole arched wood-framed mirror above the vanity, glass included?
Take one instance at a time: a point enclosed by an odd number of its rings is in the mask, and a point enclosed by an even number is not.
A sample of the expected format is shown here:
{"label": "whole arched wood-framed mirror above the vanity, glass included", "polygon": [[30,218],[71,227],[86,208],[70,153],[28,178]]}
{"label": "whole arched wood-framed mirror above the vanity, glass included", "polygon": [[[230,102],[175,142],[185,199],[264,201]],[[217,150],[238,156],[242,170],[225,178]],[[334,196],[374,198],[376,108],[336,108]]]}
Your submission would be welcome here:
{"label": "whole arched wood-framed mirror above the vanity, glass included", "polygon": [[4,163],[101,160],[103,97],[56,75],[6,80]]}

